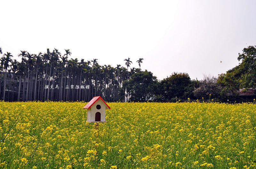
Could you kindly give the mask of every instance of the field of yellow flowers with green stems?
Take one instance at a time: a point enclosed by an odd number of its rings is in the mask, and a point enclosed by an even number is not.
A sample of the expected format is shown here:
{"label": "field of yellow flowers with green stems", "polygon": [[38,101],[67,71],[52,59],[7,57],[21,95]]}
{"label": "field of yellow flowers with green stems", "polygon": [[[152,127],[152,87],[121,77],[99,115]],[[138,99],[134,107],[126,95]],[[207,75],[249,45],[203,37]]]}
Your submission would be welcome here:
{"label": "field of yellow flowers with green stems", "polygon": [[0,168],[254,168],[256,104],[0,102]]}

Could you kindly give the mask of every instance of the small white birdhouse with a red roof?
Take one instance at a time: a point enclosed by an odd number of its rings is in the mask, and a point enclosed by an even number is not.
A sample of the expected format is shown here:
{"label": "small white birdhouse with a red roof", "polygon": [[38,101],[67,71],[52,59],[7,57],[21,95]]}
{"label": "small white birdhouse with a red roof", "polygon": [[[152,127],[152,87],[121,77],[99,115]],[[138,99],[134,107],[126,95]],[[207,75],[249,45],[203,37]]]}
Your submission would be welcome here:
{"label": "small white birdhouse with a red roof", "polygon": [[105,123],[106,109],[109,110],[110,107],[100,96],[96,96],[83,109],[87,109],[87,122]]}

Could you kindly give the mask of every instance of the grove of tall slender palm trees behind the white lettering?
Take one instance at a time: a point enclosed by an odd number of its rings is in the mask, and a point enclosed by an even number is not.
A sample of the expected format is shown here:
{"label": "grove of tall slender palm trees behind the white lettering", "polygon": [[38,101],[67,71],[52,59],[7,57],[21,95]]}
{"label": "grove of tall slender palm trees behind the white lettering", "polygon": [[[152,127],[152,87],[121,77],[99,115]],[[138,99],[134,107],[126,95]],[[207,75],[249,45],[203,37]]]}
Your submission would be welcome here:
{"label": "grove of tall slender palm trees behind the white lettering", "polygon": [[[31,54],[20,51],[21,62],[4,53],[0,67],[0,99],[4,101],[89,101],[100,95],[109,102],[124,101],[120,89],[124,80],[139,69],[99,65],[97,59],[68,59],[69,49]],[[137,62],[142,63],[142,58]]]}

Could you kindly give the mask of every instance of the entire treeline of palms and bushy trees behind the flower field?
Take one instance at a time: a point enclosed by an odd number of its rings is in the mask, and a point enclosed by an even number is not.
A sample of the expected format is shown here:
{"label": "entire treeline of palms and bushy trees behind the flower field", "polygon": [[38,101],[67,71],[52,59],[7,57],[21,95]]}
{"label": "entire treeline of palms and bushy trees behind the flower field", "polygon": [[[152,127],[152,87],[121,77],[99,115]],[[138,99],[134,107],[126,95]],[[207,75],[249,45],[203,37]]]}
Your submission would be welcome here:
{"label": "entire treeline of palms and bushy trees behind the flower field", "polygon": [[[2,49],[0,48],[2,54]],[[191,80],[187,73],[172,73],[158,81],[139,68],[99,65],[97,59],[68,59],[70,50],[31,54],[20,51],[21,62],[11,53],[1,56],[0,100],[4,101],[90,101],[100,95],[108,102],[176,102],[182,99],[224,101],[239,97],[239,89],[256,86],[256,48],[248,46],[238,56],[241,63],[218,77]]]}

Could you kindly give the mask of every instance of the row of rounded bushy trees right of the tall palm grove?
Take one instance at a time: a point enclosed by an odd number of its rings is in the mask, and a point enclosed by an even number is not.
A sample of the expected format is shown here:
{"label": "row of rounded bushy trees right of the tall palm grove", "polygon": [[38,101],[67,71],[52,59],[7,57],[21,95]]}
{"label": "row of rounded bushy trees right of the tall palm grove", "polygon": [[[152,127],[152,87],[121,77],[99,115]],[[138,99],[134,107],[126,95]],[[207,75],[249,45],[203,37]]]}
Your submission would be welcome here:
{"label": "row of rounded bushy trees right of the tall palm grove", "polygon": [[[127,97],[130,96],[130,100],[134,102],[177,102],[185,99],[235,102],[246,98],[255,102],[256,48],[248,46],[238,55],[237,59],[241,63],[218,77],[206,75],[203,80],[198,81],[191,80],[187,73],[173,73],[162,81],[157,81],[151,72],[145,71],[133,74],[128,81],[124,81],[123,86],[127,89]],[[242,92],[243,96],[240,95]]]}

